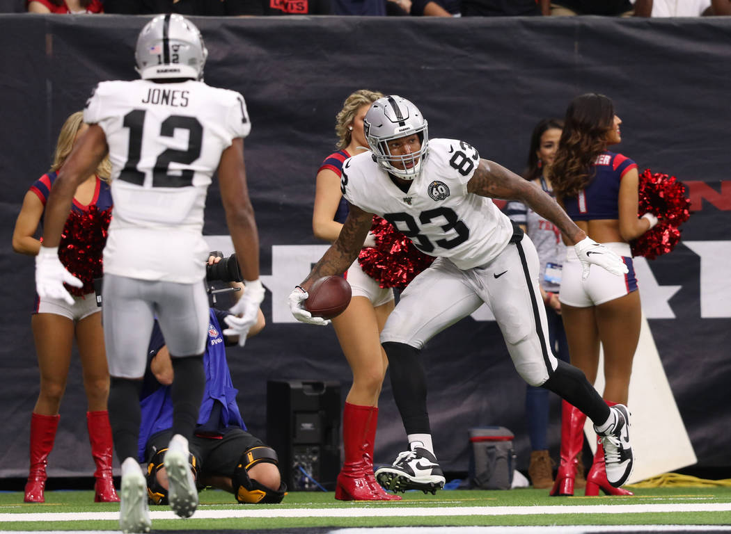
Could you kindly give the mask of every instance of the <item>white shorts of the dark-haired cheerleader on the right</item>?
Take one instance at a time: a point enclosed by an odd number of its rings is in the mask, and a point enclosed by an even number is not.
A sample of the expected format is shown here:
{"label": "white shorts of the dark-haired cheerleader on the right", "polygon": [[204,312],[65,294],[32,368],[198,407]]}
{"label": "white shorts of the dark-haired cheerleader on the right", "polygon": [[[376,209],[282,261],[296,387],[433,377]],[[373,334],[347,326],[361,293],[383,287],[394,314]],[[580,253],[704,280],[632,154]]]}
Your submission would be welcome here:
{"label": "white shorts of the dark-haired cheerleader on the right", "polygon": [[629,244],[602,243],[602,245],[622,256],[628,269],[626,275],[613,275],[599,265],[592,265],[588,278],[582,280],[579,257],[573,247],[567,247],[567,261],[564,263],[561,291],[558,293],[558,300],[561,301],[561,304],[575,308],[589,308],[637,291],[637,278]]}

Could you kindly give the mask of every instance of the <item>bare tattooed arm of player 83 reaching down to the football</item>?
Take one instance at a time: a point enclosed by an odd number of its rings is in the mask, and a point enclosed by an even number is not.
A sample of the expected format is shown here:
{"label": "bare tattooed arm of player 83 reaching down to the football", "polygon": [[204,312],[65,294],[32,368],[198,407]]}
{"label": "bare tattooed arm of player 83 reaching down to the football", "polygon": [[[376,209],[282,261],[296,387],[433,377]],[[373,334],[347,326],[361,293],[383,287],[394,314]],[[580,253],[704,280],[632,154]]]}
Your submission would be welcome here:
{"label": "bare tattooed arm of player 83 reaching down to the football", "polygon": [[310,286],[318,278],[329,275],[340,275],[355,262],[355,259],[363,248],[363,241],[366,240],[368,230],[371,229],[373,213],[368,213],[360,207],[350,205],[348,218],[345,220],[338,239],[330,245],[322,258],[312,267],[312,271],[300,287],[308,291]]}

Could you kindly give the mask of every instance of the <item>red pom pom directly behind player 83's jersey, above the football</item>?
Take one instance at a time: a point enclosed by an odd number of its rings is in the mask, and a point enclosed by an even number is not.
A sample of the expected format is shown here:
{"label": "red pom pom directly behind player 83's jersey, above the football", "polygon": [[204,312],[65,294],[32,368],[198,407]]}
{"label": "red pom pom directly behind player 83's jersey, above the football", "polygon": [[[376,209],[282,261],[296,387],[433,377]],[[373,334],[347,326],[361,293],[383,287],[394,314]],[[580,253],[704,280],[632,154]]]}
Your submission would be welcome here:
{"label": "red pom pom directly behind player 83's jersey, above the football", "polygon": [[363,272],[381,287],[404,289],[434,261],[433,256],[419,251],[385,219],[374,217],[371,232],[376,237],[376,246],[363,248],[358,262]]}

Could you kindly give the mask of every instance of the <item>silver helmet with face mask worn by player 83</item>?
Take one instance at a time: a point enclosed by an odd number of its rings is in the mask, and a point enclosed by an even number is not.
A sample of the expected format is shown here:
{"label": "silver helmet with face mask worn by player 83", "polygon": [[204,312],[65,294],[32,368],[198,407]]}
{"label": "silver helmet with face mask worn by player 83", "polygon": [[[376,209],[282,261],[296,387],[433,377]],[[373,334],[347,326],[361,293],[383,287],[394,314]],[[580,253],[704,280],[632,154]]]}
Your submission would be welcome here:
{"label": "silver helmet with face mask worn by player 83", "polygon": [[[368,146],[382,169],[404,180],[417,178],[429,144],[427,123],[419,108],[401,96],[384,96],[371,104],[363,118],[363,129]],[[414,134],[421,140],[420,150],[404,155],[391,154],[389,141]]]}

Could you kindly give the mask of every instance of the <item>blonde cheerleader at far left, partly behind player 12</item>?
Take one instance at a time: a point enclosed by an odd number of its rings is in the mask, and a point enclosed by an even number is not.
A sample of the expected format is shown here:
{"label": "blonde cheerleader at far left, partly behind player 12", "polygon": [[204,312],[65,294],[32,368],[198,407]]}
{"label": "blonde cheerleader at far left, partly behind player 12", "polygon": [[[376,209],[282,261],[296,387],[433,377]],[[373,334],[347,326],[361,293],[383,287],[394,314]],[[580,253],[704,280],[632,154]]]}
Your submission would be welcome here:
{"label": "blonde cheerleader at far left, partly behind player 12", "polygon": [[[12,234],[15,252],[37,255],[41,242],[34,236],[42,224],[45,203],[58,169],[86,129],[83,112],[75,112],[61,127],[50,171],[33,183],[23,199]],[[112,431],[107,413],[109,371],[102,314],[99,313],[102,308],[96,305],[94,294],[94,278],[102,276],[102,250],[112,210],[109,176],[110,163],[105,159],[95,174],[78,186],[61,237],[61,262],[84,283],[81,288],[67,287],[74,303],[69,305],[62,299],[40,299],[36,295],[31,327],[38,356],[40,392],[31,413],[31,466],[25,489],[26,503],[45,502],[45,468],[61,417],[58,408],[66,389],[74,339],[83,369],[88,400],[86,420],[91,455],[96,463],[94,501],[110,503],[119,500],[112,480]]]}

